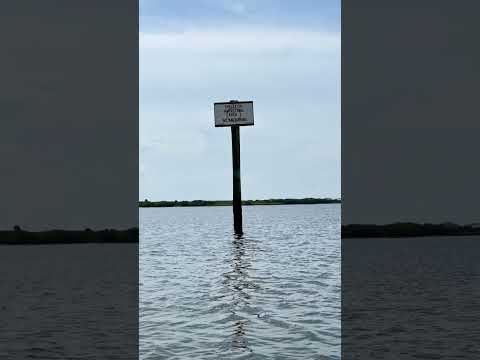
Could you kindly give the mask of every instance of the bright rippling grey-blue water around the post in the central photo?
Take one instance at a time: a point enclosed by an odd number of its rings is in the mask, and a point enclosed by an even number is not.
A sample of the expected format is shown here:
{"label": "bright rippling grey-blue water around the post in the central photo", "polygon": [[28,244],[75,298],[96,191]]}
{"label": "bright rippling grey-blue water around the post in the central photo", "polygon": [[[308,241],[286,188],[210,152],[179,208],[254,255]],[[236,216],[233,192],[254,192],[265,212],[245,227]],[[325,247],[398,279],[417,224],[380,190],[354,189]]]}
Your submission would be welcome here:
{"label": "bright rippling grey-blue water around the post in the central photo", "polygon": [[338,204],[140,210],[141,359],[340,358]]}

